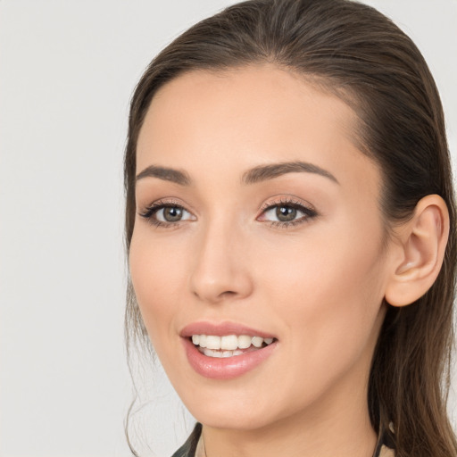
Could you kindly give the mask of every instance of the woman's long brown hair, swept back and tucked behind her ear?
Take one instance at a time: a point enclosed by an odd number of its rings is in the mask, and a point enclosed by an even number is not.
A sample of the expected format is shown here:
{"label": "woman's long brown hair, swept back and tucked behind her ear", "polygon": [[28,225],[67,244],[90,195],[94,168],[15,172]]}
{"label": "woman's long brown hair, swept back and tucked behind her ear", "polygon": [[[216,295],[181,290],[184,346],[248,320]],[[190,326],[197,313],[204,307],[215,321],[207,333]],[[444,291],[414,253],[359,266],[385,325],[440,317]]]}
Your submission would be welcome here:
{"label": "woman's long brown hair, swept back and tucked behind her ear", "polygon": [[[449,457],[457,443],[446,412],[453,346],[456,228],[445,120],[418,48],[375,9],[349,0],[250,0],[229,6],[175,39],[149,65],[131,102],[125,154],[126,245],[135,220],[139,130],[156,91],[187,71],[273,62],[344,99],[355,136],[383,174],[387,233],[425,195],[441,195],[451,233],[435,284],[417,302],[388,305],[370,370],[376,430],[392,430],[397,457]],[[127,344],[145,338],[131,284]]]}

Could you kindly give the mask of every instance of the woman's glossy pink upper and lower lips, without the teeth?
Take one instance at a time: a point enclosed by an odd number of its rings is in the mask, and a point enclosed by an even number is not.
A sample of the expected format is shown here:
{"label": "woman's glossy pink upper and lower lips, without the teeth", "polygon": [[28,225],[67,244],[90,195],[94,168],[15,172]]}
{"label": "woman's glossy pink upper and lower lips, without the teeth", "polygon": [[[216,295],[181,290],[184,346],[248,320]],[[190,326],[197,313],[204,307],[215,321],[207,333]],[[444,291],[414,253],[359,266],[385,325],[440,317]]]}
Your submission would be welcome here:
{"label": "woman's glossy pink upper and lower lips, without the teeth", "polygon": [[223,337],[226,335],[249,335],[251,337],[273,338],[273,335],[248,328],[241,324],[232,322],[223,322],[221,324],[212,324],[210,322],[195,322],[183,328],[179,335],[182,337],[187,360],[190,366],[204,378],[212,379],[232,379],[244,375],[253,370],[262,361],[270,357],[275,351],[278,341],[274,341],[268,346],[262,347],[251,352],[235,355],[227,358],[208,357],[198,351],[192,343],[192,335],[217,335]]}

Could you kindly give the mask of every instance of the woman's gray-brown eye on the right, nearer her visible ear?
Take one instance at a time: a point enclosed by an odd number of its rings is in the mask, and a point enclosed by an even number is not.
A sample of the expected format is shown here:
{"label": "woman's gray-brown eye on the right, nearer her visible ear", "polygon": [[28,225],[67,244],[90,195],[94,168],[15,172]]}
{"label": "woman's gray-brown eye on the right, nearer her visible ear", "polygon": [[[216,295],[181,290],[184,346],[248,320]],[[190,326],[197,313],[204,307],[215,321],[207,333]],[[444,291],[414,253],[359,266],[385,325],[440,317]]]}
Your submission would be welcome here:
{"label": "woman's gray-brown eye on the right, nearer her visible ear", "polygon": [[303,223],[317,216],[317,212],[295,201],[282,201],[268,204],[258,220],[270,221],[274,226],[287,227]]}

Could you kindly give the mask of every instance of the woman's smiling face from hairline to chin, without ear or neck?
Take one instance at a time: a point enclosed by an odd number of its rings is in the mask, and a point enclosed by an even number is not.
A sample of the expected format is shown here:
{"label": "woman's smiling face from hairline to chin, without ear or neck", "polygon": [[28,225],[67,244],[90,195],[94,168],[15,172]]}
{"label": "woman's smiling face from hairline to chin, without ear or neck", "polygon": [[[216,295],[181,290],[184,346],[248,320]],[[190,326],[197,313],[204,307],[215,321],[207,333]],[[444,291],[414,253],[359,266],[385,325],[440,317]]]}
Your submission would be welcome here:
{"label": "woman's smiling face from hairline to chin, without ear or neck", "polygon": [[131,277],[171,383],[206,425],[367,408],[388,247],[355,124],[271,65],[187,73],[154,96]]}

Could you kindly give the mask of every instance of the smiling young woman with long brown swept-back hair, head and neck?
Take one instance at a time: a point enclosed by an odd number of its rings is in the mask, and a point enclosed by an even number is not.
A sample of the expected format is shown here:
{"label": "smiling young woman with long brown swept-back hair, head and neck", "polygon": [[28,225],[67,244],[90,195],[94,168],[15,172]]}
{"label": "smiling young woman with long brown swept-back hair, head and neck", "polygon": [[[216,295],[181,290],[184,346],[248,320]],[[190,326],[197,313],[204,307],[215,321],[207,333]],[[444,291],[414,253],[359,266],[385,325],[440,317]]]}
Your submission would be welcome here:
{"label": "smiling young woman with long brown swept-back hair, head and neck", "polygon": [[128,342],[198,420],[176,456],[457,455],[445,122],[391,21],[252,0],[196,24],[138,83],[125,178]]}

